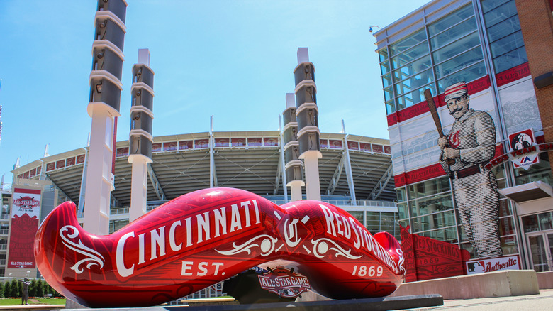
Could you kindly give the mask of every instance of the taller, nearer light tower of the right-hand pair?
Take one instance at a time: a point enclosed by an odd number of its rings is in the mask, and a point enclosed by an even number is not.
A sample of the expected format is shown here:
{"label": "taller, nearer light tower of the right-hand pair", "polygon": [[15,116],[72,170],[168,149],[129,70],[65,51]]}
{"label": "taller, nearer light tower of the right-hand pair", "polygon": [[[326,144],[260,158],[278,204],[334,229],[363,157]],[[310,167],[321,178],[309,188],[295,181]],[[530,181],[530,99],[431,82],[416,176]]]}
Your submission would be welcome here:
{"label": "taller, nearer light tower of the right-hand pair", "polygon": [[320,200],[318,159],[323,158],[323,154],[320,153],[315,67],[309,62],[307,48],[298,48],[298,67],[294,69],[294,78],[299,158],[305,165],[306,195],[308,200]]}

